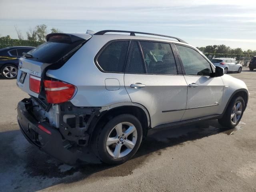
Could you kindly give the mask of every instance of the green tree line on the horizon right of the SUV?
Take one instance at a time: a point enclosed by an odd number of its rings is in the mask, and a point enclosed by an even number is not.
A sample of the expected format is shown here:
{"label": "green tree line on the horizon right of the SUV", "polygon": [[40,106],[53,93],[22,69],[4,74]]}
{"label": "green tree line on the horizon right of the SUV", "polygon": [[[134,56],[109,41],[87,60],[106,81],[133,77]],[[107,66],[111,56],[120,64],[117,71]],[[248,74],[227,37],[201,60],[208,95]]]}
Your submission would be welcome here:
{"label": "green tree line on the horizon right of the SUV", "polygon": [[256,55],[256,50],[250,50],[243,51],[241,48],[235,48],[232,49],[229,46],[226,46],[224,44],[222,45],[208,45],[205,47],[197,47],[201,52],[203,53],[214,53],[214,54],[236,54],[236,55],[242,55],[242,54],[252,54]]}

